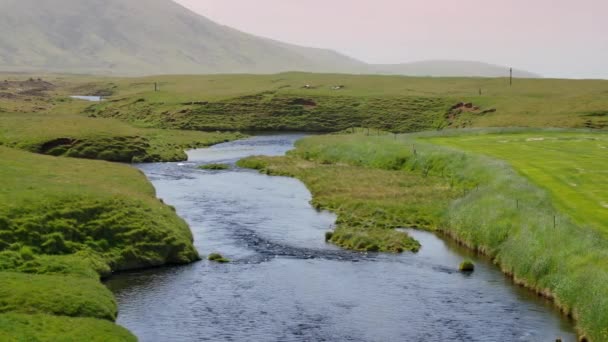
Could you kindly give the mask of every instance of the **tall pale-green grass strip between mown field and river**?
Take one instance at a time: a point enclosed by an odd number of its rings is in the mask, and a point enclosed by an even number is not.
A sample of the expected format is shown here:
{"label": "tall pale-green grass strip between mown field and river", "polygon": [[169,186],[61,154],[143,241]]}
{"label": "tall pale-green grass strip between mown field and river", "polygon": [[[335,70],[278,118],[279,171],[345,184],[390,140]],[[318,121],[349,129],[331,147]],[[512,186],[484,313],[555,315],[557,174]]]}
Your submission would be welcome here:
{"label": "tall pale-green grass strip between mown field and river", "polygon": [[[306,171],[286,168],[285,159]],[[433,145],[411,135],[361,134],[306,138],[288,157],[265,159],[264,163],[266,170],[289,170],[287,174],[303,179],[311,187],[314,201],[323,201],[325,192],[312,180],[327,177],[323,171],[327,167],[340,166],[343,171],[323,184],[342,182],[354,188],[357,172],[377,172],[374,170],[385,174],[374,173],[370,187],[395,177],[393,174],[415,176],[421,184],[440,179],[439,184],[449,191],[420,188],[423,191],[416,199],[426,198],[434,204],[435,216],[430,223],[436,224],[419,227],[444,232],[491,256],[517,282],[553,298],[565,313],[575,317],[581,334],[592,341],[608,340],[608,241],[598,230],[579,226],[560,213],[546,190],[507,163]],[[342,191],[344,188],[348,187]],[[382,186],[379,189],[389,191]],[[341,206],[329,209],[348,207],[358,200],[342,196]],[[386,202],[365,203],[377,210],[387,208]],[[398,203],[404,209],[414,208],[413,216],[428,213],[415,209],[415,199],[401,197]],[[374,220],[372,215],[367,218]]]}

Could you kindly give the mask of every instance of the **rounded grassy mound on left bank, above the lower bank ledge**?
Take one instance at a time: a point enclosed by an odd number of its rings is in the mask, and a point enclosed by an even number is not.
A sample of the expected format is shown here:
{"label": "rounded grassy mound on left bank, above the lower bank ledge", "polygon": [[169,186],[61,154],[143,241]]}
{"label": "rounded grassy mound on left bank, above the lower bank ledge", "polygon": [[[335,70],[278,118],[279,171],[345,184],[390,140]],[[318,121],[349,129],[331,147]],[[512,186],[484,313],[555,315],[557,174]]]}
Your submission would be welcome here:
{"label": "rounded grassy mound on left bank, above the lower bank ledge", "polygon": [[197,258],[185,222],[136,169],[0,147],[0,245],[37,254],[92,249],[114,270]]}

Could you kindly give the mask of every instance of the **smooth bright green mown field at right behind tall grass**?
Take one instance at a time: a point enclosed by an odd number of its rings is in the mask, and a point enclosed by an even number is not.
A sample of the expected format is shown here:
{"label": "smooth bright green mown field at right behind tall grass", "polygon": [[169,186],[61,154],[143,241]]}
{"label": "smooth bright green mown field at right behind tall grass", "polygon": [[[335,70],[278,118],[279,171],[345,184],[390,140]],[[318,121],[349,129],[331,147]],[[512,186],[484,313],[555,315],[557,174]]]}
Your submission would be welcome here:
{"label": "smooth bright green mown field at right behind tall grass", "polygon": [[507,161],[577,224],[608,234],[608,135],[538,132],[431,141]]}

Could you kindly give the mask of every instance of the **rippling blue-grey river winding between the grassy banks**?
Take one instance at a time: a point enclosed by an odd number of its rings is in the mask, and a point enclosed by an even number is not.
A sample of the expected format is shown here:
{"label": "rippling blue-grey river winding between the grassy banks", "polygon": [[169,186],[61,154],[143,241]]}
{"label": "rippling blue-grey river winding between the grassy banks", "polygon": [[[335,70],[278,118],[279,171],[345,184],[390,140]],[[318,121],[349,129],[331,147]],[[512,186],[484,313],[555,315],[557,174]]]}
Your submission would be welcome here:
{"label": "rippling blue-grey river winding between the grassy banks", "polygon": [[[260,136],[142,165],[188,221],[201,261],[113,277],[118,323],[142,341],[574,341],[572,324],[495,266],[425,232],[417,254],[360,254],[324,243],[335,216],[295,179],[234,167],[283,155],[299,135]],[[456,271],[472,258],[470,275]]]}

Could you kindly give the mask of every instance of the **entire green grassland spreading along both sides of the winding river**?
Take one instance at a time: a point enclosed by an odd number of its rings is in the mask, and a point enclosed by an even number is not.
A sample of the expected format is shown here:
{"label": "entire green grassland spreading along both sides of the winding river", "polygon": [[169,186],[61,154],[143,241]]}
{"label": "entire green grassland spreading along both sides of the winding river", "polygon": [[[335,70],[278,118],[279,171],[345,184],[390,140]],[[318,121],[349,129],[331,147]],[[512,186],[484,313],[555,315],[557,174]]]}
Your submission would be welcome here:
{"label": "entire green grassland spreading along both sides of the winding river", "polygon": [[[326,236],[337,245],[415,251],[418,242],[394,228],[448,234],[553,297],[591,340],[608,340],[604,133],[386,134],[604,129],[608,81],[517,79],[510,87],[506,79],[306,73],[27,77],[0,77],[7,80],[0,81],[0,339],[48,339],[70,329],[75,340],[132,338],[109,323],[115,303],[98,278],[198,258],[186,224],[136,170],[25,151],[168,161],[183,160],[187,147],[241,137],[217,130],[347,130],[302,140],[287,157],[241,165],[302,179],[316,207],[338,214]],[[26,292],[17,289],[24,283]]]}

